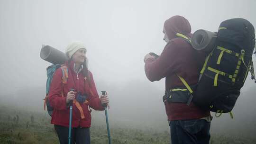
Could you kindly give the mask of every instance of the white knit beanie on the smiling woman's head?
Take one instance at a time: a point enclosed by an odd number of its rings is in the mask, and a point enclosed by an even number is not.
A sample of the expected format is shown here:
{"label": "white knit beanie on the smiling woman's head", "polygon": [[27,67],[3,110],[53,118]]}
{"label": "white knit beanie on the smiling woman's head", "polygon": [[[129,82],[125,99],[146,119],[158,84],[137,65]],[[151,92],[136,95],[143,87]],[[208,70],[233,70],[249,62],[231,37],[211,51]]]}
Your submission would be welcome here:
{"label": "white knit beanie on the smiling woman's head", "polygon": [[71,44],[69,44],[67,47],[66,47],[66,56],[68,56],[68,58],[71,58],[72,55],[79,49],[81,48],[84,48],[85,51],[86,51],[86,48],[85,46],[83,45],[82,42],[79,42],[79,41],[76,41],[76,42],[73,42]]}

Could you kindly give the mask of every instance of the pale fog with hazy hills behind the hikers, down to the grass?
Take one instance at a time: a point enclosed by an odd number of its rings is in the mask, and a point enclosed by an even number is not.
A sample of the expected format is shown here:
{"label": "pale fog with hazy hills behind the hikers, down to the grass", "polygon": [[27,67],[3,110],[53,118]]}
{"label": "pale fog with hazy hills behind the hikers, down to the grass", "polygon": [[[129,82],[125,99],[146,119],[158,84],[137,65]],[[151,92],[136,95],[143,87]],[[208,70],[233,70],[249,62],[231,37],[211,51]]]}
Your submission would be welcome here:
{"label": "pale fog with hazy hills behind the hikers, down to the grass", "polygon": [[[109,94],[110,127],[169,131],[162,102],[165,80],[148,81],[143,61],[149,52],[161,54],[166,45],[165,20],[181,15],[192,33],[217,31],[230,18],[246,18],[256,27],[255,6],[255,0],[0,0],[0,106],[46,114],[42,99],[51,63],[40,58],[41,47],[64,52],[78,40],[86,45],[99,94]],[[254,136],[255,88],[248,74],[234,119],[229,114],[214,117],[213,133]],[[102,111],[92,112],[92,123],[104,118]]]}

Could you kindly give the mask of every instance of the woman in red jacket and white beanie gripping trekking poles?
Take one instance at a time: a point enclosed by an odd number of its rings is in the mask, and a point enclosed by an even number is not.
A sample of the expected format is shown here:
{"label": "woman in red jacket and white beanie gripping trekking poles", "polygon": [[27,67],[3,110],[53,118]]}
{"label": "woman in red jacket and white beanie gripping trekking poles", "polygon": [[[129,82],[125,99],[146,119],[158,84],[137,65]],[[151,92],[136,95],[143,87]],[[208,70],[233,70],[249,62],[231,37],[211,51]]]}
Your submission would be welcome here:
{"label": "woman in red jacket and white beanie gripping trekking poles", "polygon": [[90,144],[90,107],[104,110],[109,102],[107,96],[99,98],[85,54],[86,48],[81,42],[68,45],[66,56],[69,60],[55,71],[51,83],[49,101],[54,108],[51,123],[60,144],[68,144],[70,105],[73,106],[73,144]]}

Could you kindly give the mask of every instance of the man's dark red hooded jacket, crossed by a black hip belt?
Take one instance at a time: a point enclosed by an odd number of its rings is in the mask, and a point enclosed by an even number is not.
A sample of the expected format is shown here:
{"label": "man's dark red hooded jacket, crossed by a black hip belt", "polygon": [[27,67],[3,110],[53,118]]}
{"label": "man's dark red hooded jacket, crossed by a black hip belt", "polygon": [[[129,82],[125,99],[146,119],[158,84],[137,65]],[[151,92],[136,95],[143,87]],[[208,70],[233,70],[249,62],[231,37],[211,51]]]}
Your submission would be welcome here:
{"label": "man's dark red hooded jacket, crossed by a black hip belt", "polygon": [[[147,78],[150,81],[159,81],[165,78],[165,90],[184,86],[176,74],[182,76],[189,85],[196,84],[206,55],[195,51],[183,38],[176,37],[176,33],[191,36],[189,22],[180,16],[167,19],[165,32],[170,42],[167,43],[159,58],[146,60]],[[210,116],[209,111],[204,111],[193,103],[187,106],[186,103],[165,102],[165,110],[170,121]]]}

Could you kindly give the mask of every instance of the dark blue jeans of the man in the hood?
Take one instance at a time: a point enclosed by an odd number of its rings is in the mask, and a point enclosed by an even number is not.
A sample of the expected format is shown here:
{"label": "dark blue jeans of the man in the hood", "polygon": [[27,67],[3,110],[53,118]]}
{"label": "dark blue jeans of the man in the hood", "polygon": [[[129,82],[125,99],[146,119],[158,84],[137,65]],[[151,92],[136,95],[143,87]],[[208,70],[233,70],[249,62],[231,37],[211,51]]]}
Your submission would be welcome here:
{"label": "dark blue jeans of the man in the hood", "polygon": [[204,119],[170,121],[171,144],[209,144],[210,122]]}

